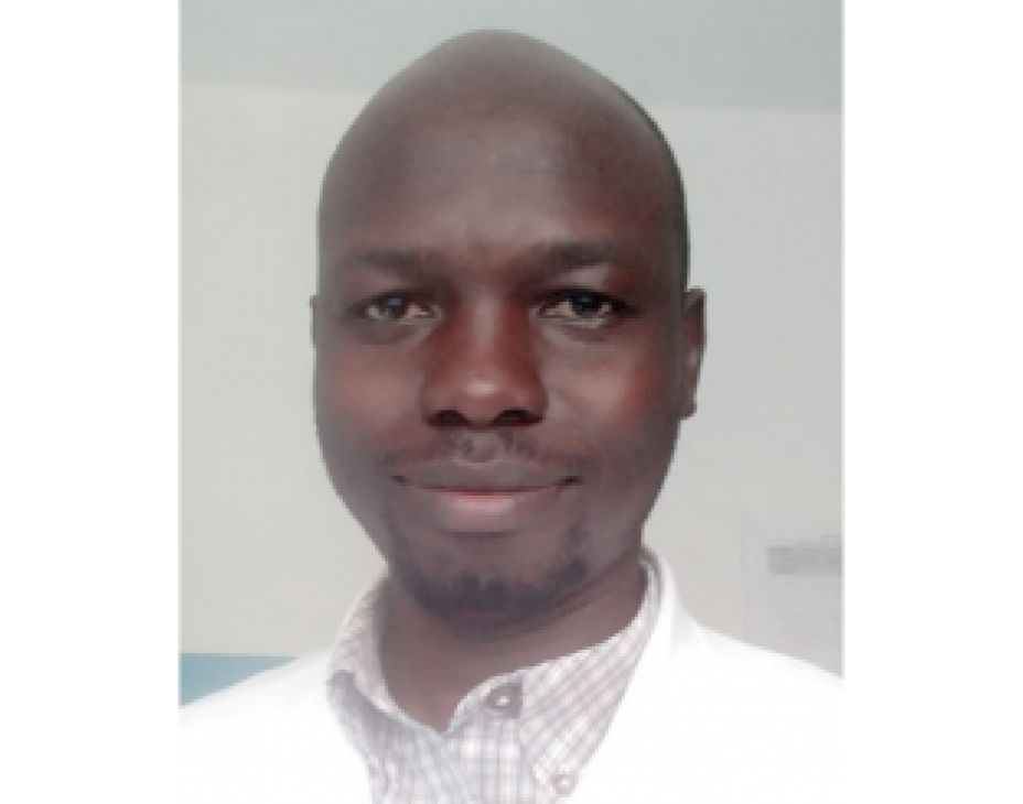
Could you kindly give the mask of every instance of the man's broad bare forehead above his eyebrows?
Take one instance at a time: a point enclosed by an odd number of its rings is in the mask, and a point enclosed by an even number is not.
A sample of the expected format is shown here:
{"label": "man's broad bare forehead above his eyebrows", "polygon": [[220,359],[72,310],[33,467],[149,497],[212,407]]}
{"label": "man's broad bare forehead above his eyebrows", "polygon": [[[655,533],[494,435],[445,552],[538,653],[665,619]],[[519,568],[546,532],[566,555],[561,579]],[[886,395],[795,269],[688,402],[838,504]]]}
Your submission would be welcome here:
{"label": "man's broad bare forehead above his eyebrows", "polygon": [[370,113],[324,189],[324,263],[366,248],[508,250],[617,240],[672,242],[670,173],[650,133],[622,115]]}

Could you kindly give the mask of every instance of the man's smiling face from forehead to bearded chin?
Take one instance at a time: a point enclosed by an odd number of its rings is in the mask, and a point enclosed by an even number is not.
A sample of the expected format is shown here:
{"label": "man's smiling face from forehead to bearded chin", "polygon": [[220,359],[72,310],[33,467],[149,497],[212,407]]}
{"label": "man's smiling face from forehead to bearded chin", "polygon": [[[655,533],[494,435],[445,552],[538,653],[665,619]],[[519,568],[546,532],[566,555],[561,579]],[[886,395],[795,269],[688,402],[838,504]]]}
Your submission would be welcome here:
{"label": "man's smiling face from forehead to bearded chin", "polygon": [[323,450],[414,598],[514,626],[635,554],[692,413],[702,297],[663,160],[528,116],[399,128],[327,186]]}

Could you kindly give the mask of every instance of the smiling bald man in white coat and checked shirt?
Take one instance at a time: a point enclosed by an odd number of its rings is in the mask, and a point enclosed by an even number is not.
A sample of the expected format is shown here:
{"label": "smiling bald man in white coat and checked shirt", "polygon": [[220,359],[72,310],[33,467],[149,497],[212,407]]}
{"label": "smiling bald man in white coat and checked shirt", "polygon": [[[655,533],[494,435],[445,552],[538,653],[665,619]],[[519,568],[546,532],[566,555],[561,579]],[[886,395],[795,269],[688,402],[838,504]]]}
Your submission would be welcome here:
{"label": "smiling bald man in white coat and checked shirt", "polygon": [[842,685],[644,548],[706,344],[653,121],[462,37],[347,133],[320,227],[323,453],[389,573],[330,655],[179,713],[177,801],[844,801]]}

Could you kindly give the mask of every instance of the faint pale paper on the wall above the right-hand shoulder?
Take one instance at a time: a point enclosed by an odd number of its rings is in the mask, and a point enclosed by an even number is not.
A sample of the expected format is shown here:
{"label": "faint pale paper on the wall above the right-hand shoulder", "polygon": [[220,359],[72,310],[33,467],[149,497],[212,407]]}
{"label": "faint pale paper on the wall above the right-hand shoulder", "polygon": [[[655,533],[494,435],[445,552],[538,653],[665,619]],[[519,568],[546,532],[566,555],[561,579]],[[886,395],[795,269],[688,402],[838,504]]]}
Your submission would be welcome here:
{"label": "faint pale paper on the wall above the right-hand shoulder", "polygon": [[847,537],[746,536],[749,639],[846,676]]}

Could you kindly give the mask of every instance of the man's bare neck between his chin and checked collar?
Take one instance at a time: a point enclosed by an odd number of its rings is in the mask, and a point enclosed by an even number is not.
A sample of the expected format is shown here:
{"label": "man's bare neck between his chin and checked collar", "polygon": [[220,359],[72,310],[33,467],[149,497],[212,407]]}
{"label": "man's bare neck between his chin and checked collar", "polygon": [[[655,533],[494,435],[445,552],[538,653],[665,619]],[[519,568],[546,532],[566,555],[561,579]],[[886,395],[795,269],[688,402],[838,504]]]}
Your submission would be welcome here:
{"label": "man's bare neck between his chin and checked collar", "polygon": [[534,621],[467,634],[388,584],[381,661],[390,694],[413,719],[444,732],[486,682],[595,648],[635,620],[646,594],[642,546],[578,596]]}

